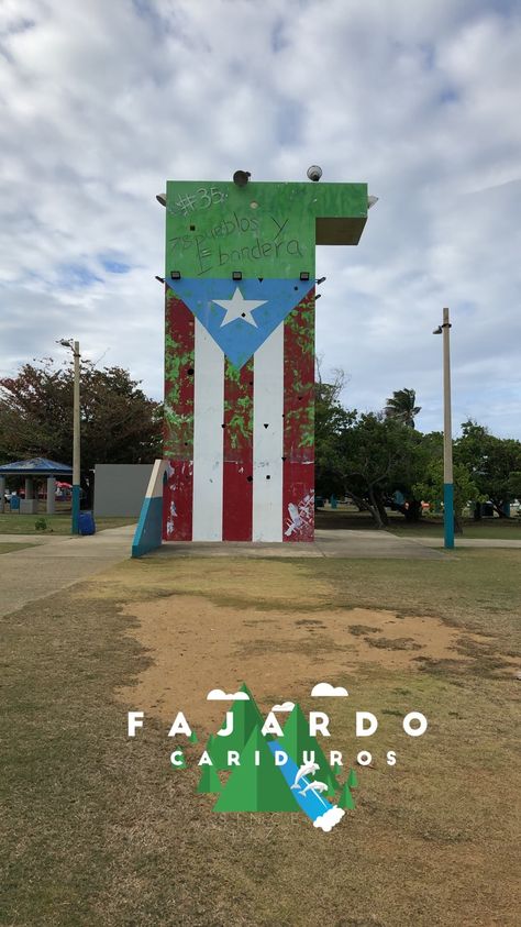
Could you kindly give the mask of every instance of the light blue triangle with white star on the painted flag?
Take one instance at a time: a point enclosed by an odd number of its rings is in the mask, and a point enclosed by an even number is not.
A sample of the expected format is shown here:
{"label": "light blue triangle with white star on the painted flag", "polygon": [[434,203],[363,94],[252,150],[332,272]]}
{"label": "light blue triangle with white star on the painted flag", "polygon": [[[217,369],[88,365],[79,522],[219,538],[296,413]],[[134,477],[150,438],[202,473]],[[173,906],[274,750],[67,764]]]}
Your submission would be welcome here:
{"label": "light blue triangle with white star on the painted flag", "polygon": [[242,367],[310,289],[309,280],[165,279],[235,367]]}

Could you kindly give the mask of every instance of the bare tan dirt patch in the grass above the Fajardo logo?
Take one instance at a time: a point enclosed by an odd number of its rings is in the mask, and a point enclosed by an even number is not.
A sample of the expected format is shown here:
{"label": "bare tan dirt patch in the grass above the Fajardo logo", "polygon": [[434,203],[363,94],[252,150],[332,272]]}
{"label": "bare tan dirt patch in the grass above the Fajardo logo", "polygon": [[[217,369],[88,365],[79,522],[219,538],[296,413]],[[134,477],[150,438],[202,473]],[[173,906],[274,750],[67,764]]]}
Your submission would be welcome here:
{"label": "bare tan dirt patch in the grass above the Fajardo logo", "polygon": [[469,665],[468,644],[479,653],[489,643],[437,618],[364,608],[263,611],[171,595],[129,603],[124,614],[137,618],[130,633],[151,663],[119,696],[168,720],[190,705],[190,721],[207,729],[222,721],[222,703],[206,700],[211,688],[234,692],[247,681],[260,700],[284,692],[300,697],[322,681],[348,689],[362,667],[418,671],[423,660]]}

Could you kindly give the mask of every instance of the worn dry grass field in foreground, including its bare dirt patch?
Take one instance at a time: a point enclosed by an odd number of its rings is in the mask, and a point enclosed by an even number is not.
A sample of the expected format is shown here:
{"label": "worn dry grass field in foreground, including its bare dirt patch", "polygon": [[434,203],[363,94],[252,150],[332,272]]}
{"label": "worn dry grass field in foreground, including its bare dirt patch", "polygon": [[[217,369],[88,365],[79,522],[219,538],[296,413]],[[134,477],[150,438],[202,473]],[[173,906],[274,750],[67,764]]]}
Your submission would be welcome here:
{"label": "worn dry grass field in foreground, including its bare dirt patch", "polygon": [[[151,558],[2,619],[2,927],[514,927],[520,560]],[[409,637],[381,636],[384,615]],[[414,616],[450,655],[422,656]],[[312,705],[322,672],[350,698]],[[354,711],[379,718],[356,810],[331,834],[196,794],[214,729],[196,696],[243,680],[263,710],[328,710],[352,758],[367,748]],[[131,708],[146,710],[134,740]],[[180,709],[199,743],[174,772]],[[423,738],[401,731],[409,710]]]}

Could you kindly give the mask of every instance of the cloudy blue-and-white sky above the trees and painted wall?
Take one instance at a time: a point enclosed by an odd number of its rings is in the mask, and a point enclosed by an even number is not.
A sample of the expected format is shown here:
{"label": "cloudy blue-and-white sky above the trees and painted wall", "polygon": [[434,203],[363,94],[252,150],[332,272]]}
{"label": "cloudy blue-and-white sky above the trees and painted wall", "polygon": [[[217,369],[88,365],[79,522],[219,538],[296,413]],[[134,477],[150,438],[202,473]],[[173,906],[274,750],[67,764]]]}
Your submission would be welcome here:
{"label": "cloudy blue-and-white sky above the trees and painted wall", "polygon": [[74,335],[160,398],[165,178],[315,163],[380,198],[318,250],[345,402],[440,429],[450,306],[455,427],[521,438],[520,88],[516,0],[0,0],[0,375]]}

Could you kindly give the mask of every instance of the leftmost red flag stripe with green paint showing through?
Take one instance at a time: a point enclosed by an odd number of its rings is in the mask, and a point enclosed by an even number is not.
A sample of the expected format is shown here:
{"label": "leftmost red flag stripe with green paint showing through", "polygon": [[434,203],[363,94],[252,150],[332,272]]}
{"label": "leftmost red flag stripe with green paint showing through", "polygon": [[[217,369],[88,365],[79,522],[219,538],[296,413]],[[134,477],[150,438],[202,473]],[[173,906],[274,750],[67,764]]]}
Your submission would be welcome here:
{"label": "leftmost red flag stripe with green paint showing through", "polygon": [[191,541],[193,493],[195,318],[167,289],[165,300],[165,457],[163,538]]}

